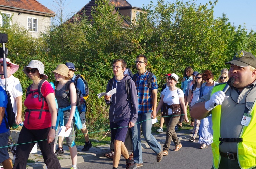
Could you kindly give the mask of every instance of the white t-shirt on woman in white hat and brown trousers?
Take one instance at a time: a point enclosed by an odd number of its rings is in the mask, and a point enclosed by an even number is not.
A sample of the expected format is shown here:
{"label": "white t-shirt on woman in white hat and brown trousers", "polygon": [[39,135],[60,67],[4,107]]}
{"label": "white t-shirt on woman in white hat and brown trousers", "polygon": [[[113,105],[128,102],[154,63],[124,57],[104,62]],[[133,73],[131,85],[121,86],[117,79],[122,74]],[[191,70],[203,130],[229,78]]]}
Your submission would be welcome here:
{"label": "white t-shirt on woman in white hat and brown trousers", "polygon": [[[165,96],[163,98],[163,102],[172,105],[172,104],[179,104],[181,97],[184,97],[184,93],[181,89],[177,88],[176,90],[169,90],[169,88],[165,88],[163,90],[162,95]],[[172,109],[168,109],[168,115],[172,114]]]}

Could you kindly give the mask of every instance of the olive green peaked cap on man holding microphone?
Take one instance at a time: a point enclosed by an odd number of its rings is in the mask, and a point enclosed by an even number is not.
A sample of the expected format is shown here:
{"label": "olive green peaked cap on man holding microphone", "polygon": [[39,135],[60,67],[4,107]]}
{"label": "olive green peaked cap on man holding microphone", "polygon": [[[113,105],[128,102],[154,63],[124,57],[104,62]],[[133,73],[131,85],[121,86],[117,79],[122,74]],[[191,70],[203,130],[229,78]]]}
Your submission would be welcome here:
{"label": "olive green peaked cap on man holding microphone", "polygon": [[241,50],[236,53],[231,61],[225,64],[233,64],[239,67],[252,66],[256,68],[256,58],[252,53]]}

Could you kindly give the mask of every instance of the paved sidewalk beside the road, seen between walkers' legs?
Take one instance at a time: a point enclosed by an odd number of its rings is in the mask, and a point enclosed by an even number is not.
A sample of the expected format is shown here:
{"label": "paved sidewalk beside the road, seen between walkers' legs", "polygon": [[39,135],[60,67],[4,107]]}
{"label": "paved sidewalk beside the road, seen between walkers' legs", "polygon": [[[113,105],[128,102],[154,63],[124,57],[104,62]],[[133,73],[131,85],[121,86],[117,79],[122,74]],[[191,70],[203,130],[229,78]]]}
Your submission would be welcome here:
{"label": "paved sidewalk beside the road, seen between walkers' legs", "polygon": [[[191,130],[188,130],[188,129],[179,129],[176,133],[177,133],[179,139],[182,140],[182,139],[191,138],[192,134],[190,132],[191,132]],[[152,133],[152,135],[157,139],[157,141],[160,144],[165,143],[166,132]],[[142,136],[141,143],[142,143],[142,148],[150,148],[149,145],[146,143],[143,136]],[[58,145],[56,147],[58,147]],[[78,145],[77,146],[77,151],[78,151],[77,163],[82,163],[82,162],[93,160],[93,159],[96,159],[96,158],[99,158],[99,157],[103,157],[103,155],[105,153],[110,152],[110,144],[101,145],[101,146],[97,146],[97,147],[91,147],[89,149],[89,151],[87,151],[87,152],[82,152],[81,151],[81,149],[83,147],[84,147],[83,145]],[[64,152],[65,152],[65,155],[58,156],[61,167],[71,165],[71,158],[70,158],[70,153],[69,153],[69,150],[68,150],[68,146],[63,145],[63,149],[64,149]],[[9,152],[9,156],[10,156],[11,159],[13,159],[13,155],[12,155],[11,152]],[[28,167],[26,169],[45,169],[45,167],[46,167],[45,163],[43,162],[43,156],[42,156],[42,153],[41,153],[39,147],[38,147],[38,153],[30,154],[28,160],[31,160],[35,163],[27,163]]]}

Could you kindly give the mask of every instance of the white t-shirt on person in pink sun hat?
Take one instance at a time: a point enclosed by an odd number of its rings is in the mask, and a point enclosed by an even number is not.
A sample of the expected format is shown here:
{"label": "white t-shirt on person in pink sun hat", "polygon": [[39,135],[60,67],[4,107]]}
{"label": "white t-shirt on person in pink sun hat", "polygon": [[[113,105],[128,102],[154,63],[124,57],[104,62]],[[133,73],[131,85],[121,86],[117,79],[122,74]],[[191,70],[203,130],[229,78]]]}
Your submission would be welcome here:
{"label": "white t-shirt on person in pink sun hat", "polygon": [[[14,77],[11,75],[10,77],[6,78],[6,83],[7,83],[7,90],[9,91],[11,97],[11,102],[12,102],[12,107],[13,107],[13,112],[15,113],[15,117],[17,116],[17,105],[15,98],[22,96],[22,87],[20,84],[20,81],[18,78]],[[3,87],[5,90],[5,79],[0,78],[0,86]]]}

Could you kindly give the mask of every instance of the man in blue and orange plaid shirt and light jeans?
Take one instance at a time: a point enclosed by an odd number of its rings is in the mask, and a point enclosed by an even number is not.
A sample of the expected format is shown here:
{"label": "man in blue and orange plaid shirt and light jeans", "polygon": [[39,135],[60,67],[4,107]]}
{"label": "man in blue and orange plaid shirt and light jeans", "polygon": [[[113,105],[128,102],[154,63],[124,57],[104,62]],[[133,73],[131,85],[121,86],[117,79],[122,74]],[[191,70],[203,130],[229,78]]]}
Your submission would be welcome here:
{"label": "man in blue and orange plaid shirt and light jeans", "polygon": [[151,89],[148,88],[147,79],[150,76],[150,72],[146,70],[147,57],[144,55],[138,55],[136,57],[136,68],[138,72],[134,75],[137,94],[138,94],[138,119],[136,125],[132,128],[132,143],[134,151],[134,163],[137,167],[141,167],[142,161],[142,149],[141,149],[141,131],[147,141],[150,148],[157,154],[157,162],[160,162],[162,155],[162,147],[157,142],[155,137],[151,134],[152,119],[156,118],[157,107],[157,81],[156,76],[153,75],[151,82]]}

